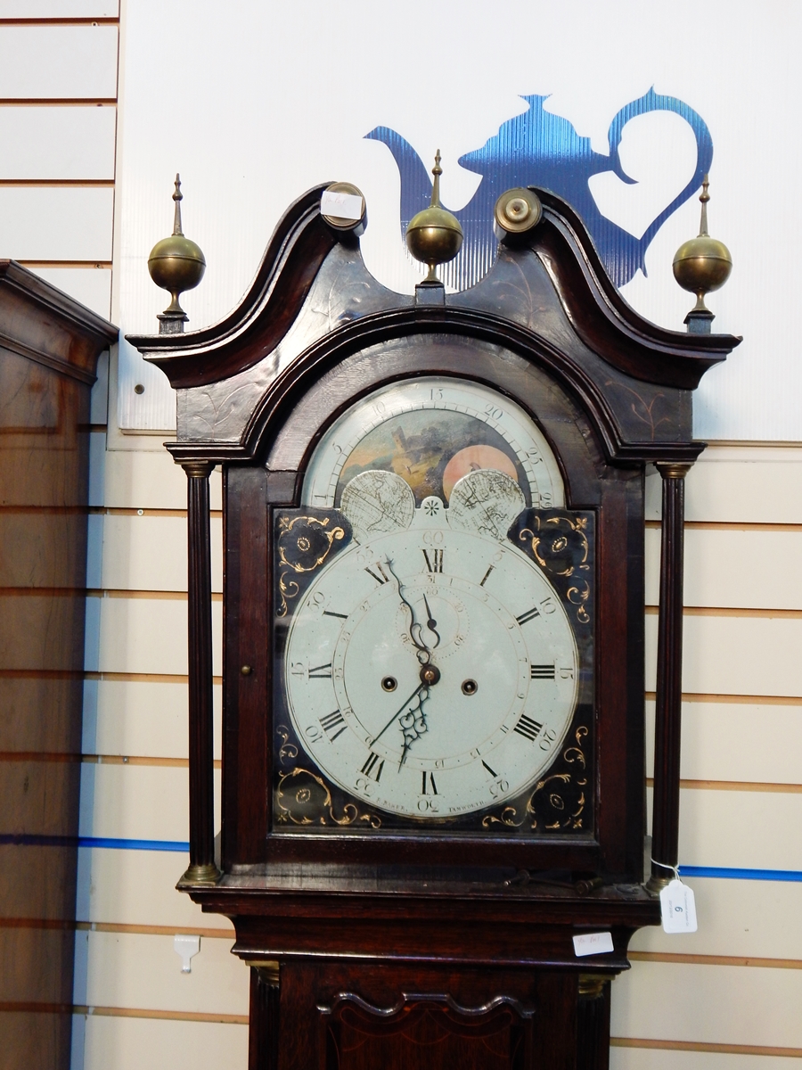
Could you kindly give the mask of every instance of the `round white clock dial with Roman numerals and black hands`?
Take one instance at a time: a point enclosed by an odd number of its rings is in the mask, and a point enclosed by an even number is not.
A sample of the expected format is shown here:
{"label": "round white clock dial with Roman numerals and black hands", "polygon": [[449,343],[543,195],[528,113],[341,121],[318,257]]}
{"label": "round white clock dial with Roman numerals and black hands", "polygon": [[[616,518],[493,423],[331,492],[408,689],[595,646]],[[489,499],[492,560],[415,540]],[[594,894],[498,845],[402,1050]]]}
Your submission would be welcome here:
{"label": "round white clock dial with Roman numerals and black hands", "polygon": [[[407,528],[373,535],[375,503],[402,516],[404,498],[366,475],[342,495],[358,541],[321,569],[290,625],[293,727],[322,773],[372,807],[417,819],[487,809],[551,764],[571,722],[568,615],[523,552],[450,526],[437,498]],[[497,483],[503,510],[514,495]]]}

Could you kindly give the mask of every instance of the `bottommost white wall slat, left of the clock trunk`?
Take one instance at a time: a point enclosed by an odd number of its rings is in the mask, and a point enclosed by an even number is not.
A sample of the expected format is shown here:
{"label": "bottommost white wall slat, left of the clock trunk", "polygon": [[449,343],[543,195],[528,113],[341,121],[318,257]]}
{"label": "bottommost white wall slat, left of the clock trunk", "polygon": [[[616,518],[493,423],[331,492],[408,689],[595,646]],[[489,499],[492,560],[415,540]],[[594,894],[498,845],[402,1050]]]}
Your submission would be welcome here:
{"label": "bottommost white wall slat, left of the clock trunk", "polygon": [[248,1065],[247,1025],[90,1015],[86,1029],[83,1070],[175,1070],[184,1066],[238,1070]]}

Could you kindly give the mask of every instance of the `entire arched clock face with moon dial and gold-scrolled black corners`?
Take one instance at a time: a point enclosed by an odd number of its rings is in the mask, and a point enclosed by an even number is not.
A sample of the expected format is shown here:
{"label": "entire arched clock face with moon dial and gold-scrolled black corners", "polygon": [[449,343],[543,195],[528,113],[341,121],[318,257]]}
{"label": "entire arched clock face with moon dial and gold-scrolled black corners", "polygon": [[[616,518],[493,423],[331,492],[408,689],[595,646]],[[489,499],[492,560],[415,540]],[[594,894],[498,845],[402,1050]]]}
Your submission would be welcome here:
{"label": "entire arched clock face with moon dial and gold-scrolled black corners", "polygon": [[276,829],[587,835],[593,517],[542,507],[534,423],[398,384],[327,432],[305,498],[276,515]]}

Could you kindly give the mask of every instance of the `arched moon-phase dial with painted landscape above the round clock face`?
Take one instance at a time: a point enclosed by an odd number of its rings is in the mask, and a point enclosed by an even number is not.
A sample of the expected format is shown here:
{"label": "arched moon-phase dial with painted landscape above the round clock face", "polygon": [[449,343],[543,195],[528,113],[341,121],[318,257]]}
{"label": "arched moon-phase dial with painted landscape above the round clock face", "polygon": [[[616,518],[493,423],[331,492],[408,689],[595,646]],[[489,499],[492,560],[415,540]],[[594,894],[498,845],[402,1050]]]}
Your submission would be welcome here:
{"label": "arched moon-phase dial with painted landscape above the round clock face", "polygon": [[348,410],[323,435],[307,468],[303,503],[339,507],[363,472],[386,471],[449,504],[457,483],[479,470],[502,472],[526,505],[565,504],[559,467],[545,435],[512,401],[479,383],[426,376],[382,387]]}

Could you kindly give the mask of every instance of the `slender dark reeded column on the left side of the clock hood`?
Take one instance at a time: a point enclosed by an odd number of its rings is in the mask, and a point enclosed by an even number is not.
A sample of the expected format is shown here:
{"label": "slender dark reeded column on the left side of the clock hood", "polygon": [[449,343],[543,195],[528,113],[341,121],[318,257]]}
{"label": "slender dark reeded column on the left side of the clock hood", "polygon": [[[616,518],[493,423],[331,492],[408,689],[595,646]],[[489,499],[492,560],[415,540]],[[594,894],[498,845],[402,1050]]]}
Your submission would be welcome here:
{"label": "slender dark reeded column on the left side of the clock hood", "polygon": [[181,884],[214,884],[214,722],[212,713],[211,461],[185,461],[189,636],[189,869]]}

